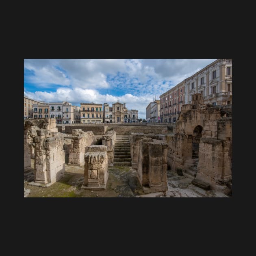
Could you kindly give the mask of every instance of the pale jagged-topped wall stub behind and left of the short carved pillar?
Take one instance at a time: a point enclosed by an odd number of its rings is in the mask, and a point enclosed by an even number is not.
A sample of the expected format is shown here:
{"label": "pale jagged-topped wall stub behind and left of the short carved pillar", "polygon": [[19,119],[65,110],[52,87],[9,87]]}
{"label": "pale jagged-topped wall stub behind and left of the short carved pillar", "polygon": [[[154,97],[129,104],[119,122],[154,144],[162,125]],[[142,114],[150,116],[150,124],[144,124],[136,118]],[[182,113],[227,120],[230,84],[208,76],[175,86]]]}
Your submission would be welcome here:
{"label": "pale jagged-topped wall stub behind and left of the short carved pillar", "polygon": [[81,129],[72,130],[72,141],[69,146],[68,163],[72,165],[85,165],[85,153],[95,139],[93,132],[83,132]]}

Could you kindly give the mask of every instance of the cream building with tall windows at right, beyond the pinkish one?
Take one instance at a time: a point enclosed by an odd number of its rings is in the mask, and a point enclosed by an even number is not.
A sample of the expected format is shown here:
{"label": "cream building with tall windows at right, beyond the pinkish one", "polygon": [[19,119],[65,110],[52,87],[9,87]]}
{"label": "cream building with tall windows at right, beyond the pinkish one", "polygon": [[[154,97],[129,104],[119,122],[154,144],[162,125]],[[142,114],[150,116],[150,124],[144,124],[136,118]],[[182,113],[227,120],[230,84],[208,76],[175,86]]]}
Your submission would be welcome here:
{"label": "cream building with tall windows at right, beyond the pinkish one", "polygon": [[201,93],[205,104],[232,104],[232,59],[217,59],[185,80],[186,104]]}

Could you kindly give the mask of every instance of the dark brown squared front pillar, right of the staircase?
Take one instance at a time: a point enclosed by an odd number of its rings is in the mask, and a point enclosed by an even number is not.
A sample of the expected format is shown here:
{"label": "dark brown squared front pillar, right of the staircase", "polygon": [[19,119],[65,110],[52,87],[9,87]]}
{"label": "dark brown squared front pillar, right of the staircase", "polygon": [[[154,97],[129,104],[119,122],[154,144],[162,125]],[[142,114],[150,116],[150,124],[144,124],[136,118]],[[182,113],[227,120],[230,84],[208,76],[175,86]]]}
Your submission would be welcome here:
{"label": "dark brown squared front pillar, right of the staircase", "polygon": [[167,191],[167,148],[161,140],[139,140],[137,177],[144,193]]}

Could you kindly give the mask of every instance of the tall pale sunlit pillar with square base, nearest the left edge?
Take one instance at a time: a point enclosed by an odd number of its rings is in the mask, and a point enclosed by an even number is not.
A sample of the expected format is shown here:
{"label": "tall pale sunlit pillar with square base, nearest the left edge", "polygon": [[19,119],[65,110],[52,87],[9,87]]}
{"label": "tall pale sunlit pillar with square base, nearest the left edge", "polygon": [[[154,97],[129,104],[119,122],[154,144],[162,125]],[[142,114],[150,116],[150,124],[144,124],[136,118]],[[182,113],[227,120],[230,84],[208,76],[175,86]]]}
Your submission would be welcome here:
{"label": "tall pale sunlit pillar with square base, nearest the left edge", "polygon": [[35,182],[32,185],[51,185],[64,176],[65,152],[63,136],[59,132],[37,130],[35,137]]}

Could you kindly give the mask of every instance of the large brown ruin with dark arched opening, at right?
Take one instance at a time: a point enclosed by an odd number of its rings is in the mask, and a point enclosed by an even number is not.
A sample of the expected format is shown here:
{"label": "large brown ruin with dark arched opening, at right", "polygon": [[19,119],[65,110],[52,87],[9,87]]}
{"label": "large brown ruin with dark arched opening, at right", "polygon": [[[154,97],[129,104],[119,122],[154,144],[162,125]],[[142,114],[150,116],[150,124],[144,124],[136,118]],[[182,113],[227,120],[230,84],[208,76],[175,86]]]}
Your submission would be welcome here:
{"label": "large brown ruin with dark arched opening, at right", "polygon": [[182,106],[175,134],[166,136],[168,164],[198,187],[225,190],[232,182],[232,105],[203,102],[197,93]]}

